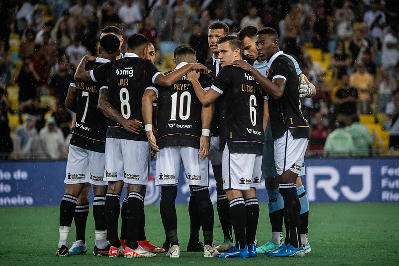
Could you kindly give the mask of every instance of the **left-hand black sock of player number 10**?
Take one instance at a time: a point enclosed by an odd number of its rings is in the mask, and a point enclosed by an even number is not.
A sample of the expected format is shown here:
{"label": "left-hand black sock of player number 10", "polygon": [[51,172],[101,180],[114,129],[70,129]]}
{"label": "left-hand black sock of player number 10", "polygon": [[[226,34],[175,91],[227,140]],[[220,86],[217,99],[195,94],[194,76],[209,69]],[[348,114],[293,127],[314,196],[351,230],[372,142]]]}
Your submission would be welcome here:
{"label": "left-hand black sock of player number 10", "polygon": [[175,200],[177,196],[177,186],[161,187],[160,212],[163,228],[171,246],[177,245],[177,217]]}

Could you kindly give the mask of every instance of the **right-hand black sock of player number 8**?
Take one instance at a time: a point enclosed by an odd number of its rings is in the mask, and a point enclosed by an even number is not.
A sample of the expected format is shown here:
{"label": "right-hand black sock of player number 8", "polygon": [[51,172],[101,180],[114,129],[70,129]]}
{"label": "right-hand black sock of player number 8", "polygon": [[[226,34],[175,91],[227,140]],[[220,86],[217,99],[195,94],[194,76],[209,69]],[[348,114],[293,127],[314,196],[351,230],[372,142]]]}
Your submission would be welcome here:
{"label": "right-hand black sock of player number 8", "polygon": [[143,218],[144,197],[138,192],[130,192],[127,198],[126,247],[137,249],[138,231]]}

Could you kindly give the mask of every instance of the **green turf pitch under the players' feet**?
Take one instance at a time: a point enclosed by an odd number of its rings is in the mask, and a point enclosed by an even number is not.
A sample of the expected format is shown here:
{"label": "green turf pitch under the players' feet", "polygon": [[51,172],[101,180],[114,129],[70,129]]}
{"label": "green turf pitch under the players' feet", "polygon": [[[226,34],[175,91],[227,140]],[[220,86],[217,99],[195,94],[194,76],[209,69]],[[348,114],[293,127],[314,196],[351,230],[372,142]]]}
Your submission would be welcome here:
{"label": "green turf pitch under the players' feet", "polygon": [[[267,205],[261,213],[257,239],[259,244],[270,240]],[[187,205],[177,206],[178,233],[181,244],[179,259],[165,258],[94,258],[94,222],[92,212],[87,222],[86,255],[58,258],[58,207],[19,207],[0,209],[0,266],[6,265],[398,265],[399,205],[398,204],[311,204],[309,241],[312,252],[305,258],[218,259],[203,258],[201,253],[184,252],[189,236]],[[146,206],[146,234],[151,243],[164,240],[159,206]],[[215,208],[216,245],[222,234]],[[74,241],[74,226],[70,245]]]}

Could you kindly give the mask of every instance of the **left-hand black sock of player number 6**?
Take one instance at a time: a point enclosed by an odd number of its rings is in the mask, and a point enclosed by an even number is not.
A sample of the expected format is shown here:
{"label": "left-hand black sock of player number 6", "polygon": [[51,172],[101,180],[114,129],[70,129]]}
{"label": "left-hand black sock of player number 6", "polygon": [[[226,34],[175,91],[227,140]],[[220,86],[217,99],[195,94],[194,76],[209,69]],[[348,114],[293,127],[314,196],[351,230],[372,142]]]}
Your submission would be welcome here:
{"label": "left-hand black sock of player number 6", "polygon": [[247,209],[243,198],[235,198],[230,201],[230,219],[236,238],[236,247],[244,249],[247,245],[245,229],[247,227]]}

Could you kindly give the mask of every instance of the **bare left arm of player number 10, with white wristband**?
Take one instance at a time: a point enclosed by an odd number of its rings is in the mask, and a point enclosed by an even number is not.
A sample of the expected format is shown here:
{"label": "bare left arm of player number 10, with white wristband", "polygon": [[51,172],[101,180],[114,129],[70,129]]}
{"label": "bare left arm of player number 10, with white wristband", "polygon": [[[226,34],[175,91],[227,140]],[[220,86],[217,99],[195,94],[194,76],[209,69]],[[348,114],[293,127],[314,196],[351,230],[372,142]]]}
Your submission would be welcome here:
{"label": "bare left arm of player number 10, with white wristband", "polygon": [[145,133],[147,135],[148,143],[154,151],[159,152],[159,147],[156,145],[156,138],[153,132],[152,125],[152,103],[158,98],[157,89],[155,87],[148,87],[141,99],[141,113],[143,114]]}

